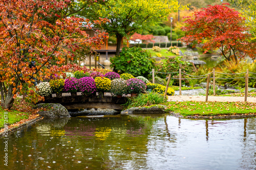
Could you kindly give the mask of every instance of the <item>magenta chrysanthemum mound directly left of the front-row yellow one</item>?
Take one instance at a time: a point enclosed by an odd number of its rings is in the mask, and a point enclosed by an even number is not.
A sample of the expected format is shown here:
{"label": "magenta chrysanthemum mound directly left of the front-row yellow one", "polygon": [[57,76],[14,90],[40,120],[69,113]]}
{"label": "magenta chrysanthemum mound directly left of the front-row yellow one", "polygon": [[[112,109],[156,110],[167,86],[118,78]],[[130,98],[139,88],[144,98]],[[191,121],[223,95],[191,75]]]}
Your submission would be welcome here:
{"label": "magenta chrysanthemum mound directly left of the front-row yellow one", "polygon": [[96,85],[94,79],[91,77],[83,77],[77,80],[77,90],[84,95],[90,95],[96,91]]}

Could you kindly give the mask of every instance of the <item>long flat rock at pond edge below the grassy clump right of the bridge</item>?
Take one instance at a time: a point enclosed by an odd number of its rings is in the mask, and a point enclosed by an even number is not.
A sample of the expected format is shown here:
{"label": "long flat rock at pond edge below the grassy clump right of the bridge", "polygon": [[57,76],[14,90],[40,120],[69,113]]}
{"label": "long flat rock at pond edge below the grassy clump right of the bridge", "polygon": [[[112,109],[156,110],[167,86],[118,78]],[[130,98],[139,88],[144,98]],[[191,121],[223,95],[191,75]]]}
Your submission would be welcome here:
{"label": "long flat rock at pond edge below the grassy clump right of the bridge", "polygon": [[123,110],[121,114],[134,114],[134,113],[165,113],[166,106],[164,105],[152,105],[147,107],[132,107],[127,110]]}

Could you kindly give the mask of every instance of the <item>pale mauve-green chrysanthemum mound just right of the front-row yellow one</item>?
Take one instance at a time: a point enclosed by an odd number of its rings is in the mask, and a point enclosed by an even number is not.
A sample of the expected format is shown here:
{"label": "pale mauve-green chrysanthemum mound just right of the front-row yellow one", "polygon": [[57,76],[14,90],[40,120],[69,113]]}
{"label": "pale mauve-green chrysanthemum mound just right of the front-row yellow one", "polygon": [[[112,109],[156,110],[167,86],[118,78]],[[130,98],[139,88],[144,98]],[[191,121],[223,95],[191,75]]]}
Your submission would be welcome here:
{"label": "pale mauve-green chrysanthemum mound just right of the front-row yellow one", "polygon": [[124,79],[114,79],[111,81],[111,93],[112,95],[122,95],[127,92],[127,84]]}

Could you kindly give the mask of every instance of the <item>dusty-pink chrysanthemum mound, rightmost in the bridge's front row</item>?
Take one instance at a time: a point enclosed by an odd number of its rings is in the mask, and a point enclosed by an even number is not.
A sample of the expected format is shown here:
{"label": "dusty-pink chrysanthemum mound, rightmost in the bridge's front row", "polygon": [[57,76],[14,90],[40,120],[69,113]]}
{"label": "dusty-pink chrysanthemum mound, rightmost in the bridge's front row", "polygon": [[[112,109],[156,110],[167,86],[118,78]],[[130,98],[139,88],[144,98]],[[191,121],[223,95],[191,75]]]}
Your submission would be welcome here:
{"label": "dusty-pink chrysanthemum mound, rightmost in the bridge's front row", "polygon": [[129,93],[141,93],[146,90],[146,84],[140,79],[129,79],[126,82]]}

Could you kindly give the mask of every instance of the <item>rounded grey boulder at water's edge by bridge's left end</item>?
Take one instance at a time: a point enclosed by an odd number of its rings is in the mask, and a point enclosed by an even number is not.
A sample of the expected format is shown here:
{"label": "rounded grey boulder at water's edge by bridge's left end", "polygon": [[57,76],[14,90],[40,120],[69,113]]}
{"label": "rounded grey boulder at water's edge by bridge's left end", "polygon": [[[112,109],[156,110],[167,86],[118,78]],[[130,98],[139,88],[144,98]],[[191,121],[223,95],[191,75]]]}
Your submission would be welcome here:
{"label": "rounded grey boulder at water's edge by bridge's left end", "polygon": [[48,111],[40,111],[38,114],[44,117],[70,117],[69,111],[58,103],[40,103],[35,108],[47,108]]}

